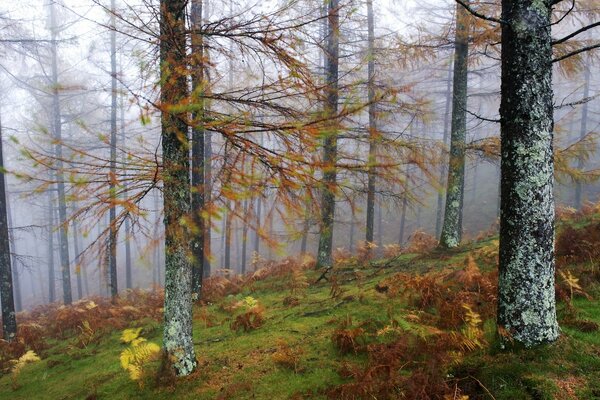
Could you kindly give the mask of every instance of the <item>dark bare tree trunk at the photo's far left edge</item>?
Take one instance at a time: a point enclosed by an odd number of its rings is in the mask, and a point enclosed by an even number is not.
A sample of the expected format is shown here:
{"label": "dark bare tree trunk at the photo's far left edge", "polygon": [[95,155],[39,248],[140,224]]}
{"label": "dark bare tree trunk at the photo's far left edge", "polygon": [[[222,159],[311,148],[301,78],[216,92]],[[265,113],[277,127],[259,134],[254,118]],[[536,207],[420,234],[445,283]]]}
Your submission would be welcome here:
{"label": "dark bare tree trunk at the photo's far left edge", "polygon": [[0,303],[2,305],[2,337],[12,342],[17,335],[17,319],[13,297],[13,275],[8,234],[6,181],[2,152],[2,121],[0,120]]}

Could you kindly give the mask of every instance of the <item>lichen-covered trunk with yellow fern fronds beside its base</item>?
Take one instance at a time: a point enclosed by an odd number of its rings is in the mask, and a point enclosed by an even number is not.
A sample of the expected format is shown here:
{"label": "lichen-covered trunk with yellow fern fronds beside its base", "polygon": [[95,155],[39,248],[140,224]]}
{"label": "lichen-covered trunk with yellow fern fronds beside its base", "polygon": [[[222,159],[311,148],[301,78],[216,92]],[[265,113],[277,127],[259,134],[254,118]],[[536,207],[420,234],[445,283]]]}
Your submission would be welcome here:
{"label": "lichen-covered trunk with yellow fern fronds beside its base", "polygon": [[192,341],[192,266],[188,229],[190,178],[187,124],[180,114],[187,98],[186,0],[160,2],[160,73],[163,195],[165,222],[165,325],[163,346],[175,373],[197,365]]}

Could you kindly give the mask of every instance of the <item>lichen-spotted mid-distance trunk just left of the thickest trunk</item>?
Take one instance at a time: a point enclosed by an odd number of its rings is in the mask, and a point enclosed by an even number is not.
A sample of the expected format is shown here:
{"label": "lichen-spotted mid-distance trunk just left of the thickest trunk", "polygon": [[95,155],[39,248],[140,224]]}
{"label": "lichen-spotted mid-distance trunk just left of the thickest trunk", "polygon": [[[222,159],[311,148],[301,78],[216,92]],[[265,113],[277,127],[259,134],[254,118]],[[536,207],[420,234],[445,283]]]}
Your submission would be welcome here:
{"label": "lichen-spotted mid-distance trunk just left of the thickest trunk", "polygon": [[467,134],[467,81],[469,57],[469,15],[456,4],[454,39],[454,80],[452,84],[452,128],[450,161],[446,181],[446,207],[440,246],[456,247],[462,236],[463,188],[465,180],[465,139]]}

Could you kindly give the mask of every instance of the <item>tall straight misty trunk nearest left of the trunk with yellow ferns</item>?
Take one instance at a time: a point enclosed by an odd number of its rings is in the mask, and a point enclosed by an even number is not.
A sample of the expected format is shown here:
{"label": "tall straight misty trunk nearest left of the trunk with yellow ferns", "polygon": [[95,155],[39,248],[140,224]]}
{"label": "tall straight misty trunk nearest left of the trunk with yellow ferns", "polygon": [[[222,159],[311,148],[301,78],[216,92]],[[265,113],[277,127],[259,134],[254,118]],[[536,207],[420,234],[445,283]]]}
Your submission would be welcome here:
{"label": "tall straight misty trunk nearest left of the trunk with yellow ferns", "polygon": [[110,207],[109,207],[109,236],[108,236],[108,265],[110,275],[110,297],[113,301],[119,294],[117,286],[117,209],[116,209],[116,179],[117,179],[117,30],[115,26],[116,6],[111,0],[110,14]]}

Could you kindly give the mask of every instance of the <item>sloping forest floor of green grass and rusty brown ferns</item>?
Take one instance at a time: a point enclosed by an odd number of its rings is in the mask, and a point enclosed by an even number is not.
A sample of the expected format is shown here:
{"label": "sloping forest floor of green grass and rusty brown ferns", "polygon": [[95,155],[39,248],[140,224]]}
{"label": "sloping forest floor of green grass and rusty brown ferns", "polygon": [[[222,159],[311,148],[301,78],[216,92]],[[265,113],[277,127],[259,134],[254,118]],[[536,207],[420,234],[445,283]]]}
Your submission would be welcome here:
{"label": "sloping forest floor of green grass and rusty brown ferns", "polygon": [[[154,359],[134,381],[120,363],[124,329],[160,345],[160,294],[22,314],[22,346],[0,347],[0,399],[600,399],[598,209],[559,228],[562,336],[548,346],[500,349],[497,238],[452,252],[422,240],[374,261],[342,252],[319,283],[291,259],[212,279],[194,309],[199,366],[186,378]],[[41,360],[10,361],[26,350]]]}

